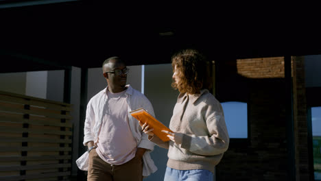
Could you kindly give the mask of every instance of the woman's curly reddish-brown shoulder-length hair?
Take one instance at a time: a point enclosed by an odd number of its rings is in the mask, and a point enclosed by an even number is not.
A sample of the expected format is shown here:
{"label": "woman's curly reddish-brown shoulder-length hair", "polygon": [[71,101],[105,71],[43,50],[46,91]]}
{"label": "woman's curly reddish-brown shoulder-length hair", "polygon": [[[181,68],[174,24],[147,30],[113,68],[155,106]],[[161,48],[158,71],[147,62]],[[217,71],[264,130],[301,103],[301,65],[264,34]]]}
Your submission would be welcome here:
{"label": "woman's curly reddish-brown shoulder-length hair", "polygon": [[205,56],[195,49],[184,49],[178,51],[171,57],[171,66],[178,71],[180,82],[171,83],[174,89],[178,89],[180,93],[195,94],[200,90],[211,87],[211,77],[209,74],[209,62]]}

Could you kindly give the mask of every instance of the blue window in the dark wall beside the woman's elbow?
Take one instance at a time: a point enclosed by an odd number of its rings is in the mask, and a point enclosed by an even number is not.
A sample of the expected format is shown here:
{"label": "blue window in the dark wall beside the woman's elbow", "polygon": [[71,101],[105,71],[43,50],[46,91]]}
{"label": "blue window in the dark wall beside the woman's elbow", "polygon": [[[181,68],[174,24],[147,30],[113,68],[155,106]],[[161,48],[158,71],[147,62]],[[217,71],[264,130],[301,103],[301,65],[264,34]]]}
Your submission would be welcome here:
{"label": "blue window in the dark wall beside the woman's elbow", "polygon": [[230,138],[248,138],[248,104],[228,101],[222,107]]}

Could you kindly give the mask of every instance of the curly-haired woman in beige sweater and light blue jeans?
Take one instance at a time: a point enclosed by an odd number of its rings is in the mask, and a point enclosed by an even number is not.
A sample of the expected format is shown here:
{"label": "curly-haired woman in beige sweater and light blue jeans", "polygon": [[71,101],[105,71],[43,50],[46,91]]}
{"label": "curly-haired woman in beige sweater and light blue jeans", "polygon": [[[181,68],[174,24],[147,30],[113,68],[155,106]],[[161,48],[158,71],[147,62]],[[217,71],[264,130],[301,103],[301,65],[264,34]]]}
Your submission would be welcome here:
{"label": "curly-haired woman in beige sweater and light blue jeans", "polygon": [[169,149],[164,180],[213,180],[215,165],[228,149],[228,132],[221,104],[209,93],[206,59],[194,49],[172,58],[173,83],[180,95],[163,142],[147,124],[141,124],[150,141]]}

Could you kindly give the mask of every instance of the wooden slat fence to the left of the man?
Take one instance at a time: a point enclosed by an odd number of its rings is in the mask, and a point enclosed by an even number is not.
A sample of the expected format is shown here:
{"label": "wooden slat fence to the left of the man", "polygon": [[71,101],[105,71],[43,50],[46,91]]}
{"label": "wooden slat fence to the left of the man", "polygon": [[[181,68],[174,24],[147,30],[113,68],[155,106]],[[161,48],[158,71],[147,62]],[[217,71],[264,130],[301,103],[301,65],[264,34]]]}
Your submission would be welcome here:
{"label": "wooden slat fence to the left of the man", "polygon": [[0,180],[70,180],[71,105],[0,91]]}

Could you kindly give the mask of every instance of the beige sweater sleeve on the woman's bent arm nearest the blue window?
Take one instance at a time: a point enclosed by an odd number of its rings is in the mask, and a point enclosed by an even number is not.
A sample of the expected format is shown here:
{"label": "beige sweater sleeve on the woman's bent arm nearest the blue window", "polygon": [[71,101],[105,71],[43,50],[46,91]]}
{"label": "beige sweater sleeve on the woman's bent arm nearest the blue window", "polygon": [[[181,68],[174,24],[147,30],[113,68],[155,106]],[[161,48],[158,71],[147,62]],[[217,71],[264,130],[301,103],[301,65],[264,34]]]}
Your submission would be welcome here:
{"label": "beige sweater sleeve on the woman's bent arm nearest the blue window", "polygon": [[222,154],[228,149],[229,137],[222,106],[219,104],[218,109],[215,110],[213,106],[209,107],[204,115],[209,135],[184,134],[183,136],[181,147],[194,154],[213,156]]}

